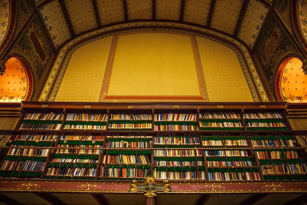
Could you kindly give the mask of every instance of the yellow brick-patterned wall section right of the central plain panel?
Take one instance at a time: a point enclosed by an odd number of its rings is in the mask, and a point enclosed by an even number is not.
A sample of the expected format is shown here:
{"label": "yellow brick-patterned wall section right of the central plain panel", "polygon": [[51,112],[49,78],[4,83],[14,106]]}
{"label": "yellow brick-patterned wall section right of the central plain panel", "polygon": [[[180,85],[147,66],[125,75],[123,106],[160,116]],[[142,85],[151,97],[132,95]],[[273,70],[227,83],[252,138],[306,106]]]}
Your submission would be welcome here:
{"label": "yellow brick-patterned wall section right of the central plain panel", "polygon": [[196,37],[210,102],[252,102],[236,53],[213,40]]}

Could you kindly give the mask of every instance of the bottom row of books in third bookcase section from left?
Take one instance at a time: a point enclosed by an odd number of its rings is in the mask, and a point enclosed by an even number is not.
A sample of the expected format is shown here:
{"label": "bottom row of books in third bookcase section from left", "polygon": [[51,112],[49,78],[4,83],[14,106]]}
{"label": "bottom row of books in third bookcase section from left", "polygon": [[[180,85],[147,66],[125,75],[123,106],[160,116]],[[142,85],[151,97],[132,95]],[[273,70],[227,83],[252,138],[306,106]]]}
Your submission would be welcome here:
{"label": "bottom row of books in third bookcase section from left", "polygon": [[149,169],[134,169],[134,168],[104,168],[101,169],[100,176],[105,177],[123,177],[123,178],[145,178],[149,175]]}

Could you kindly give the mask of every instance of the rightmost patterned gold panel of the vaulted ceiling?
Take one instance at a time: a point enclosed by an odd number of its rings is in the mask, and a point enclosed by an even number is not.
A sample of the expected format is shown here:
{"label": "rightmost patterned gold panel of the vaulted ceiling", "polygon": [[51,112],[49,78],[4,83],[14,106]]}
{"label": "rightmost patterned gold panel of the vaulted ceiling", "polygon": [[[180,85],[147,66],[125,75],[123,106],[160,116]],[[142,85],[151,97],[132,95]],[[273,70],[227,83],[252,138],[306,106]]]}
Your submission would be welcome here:
{"label": "rightmost patterned gold panel of the vaulted ceiling", "polygon": [[268,7],[257,0],[250,0],[243,18],[238,38],[243,40],[251,49],[259,34],[262,24],[268,14]]}

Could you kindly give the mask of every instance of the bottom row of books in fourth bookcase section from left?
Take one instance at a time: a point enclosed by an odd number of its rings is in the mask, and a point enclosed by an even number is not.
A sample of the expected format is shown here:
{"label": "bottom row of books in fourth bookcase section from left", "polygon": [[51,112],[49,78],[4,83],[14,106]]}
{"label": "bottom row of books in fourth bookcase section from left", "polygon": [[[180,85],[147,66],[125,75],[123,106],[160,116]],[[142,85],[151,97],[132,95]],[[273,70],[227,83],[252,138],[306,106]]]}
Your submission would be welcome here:
{"label": "bottom row of books in fourth bookcase section from left", "polygon": [[170,179],[170,180],[205,180],[206,173],[204,171],[192,172],[161,172],[153,170],[152,173],[157,179]]}

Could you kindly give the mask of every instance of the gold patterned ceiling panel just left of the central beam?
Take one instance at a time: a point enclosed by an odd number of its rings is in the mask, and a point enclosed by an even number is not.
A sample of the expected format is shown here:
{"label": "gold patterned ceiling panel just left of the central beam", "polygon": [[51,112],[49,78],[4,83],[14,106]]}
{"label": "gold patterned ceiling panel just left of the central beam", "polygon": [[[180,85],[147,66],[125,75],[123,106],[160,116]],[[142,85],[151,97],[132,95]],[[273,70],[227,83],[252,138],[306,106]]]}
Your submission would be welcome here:
{"label": "gold patterned ceiling panel just left of the central beam", "polygon": [[151,0],[127,0],[128,19],[151,19]]}

